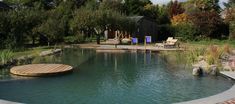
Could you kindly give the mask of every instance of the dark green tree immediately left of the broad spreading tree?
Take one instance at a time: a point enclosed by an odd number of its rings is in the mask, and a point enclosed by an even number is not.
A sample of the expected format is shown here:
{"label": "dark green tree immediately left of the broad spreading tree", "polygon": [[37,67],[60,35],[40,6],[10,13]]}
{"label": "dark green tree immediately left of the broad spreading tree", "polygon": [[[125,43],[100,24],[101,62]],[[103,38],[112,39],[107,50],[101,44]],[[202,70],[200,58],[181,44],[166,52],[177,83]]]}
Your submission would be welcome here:
{"label": "dark green tree immediately left of the broad spreading tree", "polygon": [[63,2],[56,9],[46,11],[47,19],[35,31],[44,34],[49,43],[63,41],[69,32],[71,9],[74,9],[72,2]]}

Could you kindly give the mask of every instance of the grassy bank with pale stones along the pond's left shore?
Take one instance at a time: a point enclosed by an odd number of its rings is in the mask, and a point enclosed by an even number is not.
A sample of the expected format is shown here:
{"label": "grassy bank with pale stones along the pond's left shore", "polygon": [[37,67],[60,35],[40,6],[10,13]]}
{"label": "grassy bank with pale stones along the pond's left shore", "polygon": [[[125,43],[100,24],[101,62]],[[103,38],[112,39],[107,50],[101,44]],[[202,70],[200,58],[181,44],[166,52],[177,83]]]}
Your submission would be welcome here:
{"label": "grassy bank with pale stones along the pond's left shore", "polygon": [[24,50],[0,50],[0,68],[29,64],[35,57],[51,55],[53,53],[58,53],[61,47],[35,47],[28,48]]}

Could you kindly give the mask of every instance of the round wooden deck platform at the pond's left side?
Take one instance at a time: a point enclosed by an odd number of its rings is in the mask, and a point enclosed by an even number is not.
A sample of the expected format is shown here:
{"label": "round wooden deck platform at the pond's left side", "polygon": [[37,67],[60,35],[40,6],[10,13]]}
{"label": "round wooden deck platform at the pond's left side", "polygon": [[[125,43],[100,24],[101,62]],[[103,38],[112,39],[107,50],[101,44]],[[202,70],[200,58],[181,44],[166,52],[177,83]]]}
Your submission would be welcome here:
{"label": "round wooden deck platform at the pond's left side", "polygon": [[10,69],[10,72],[20,76],[50,76],[63,74],[72,71],[73,67],[64,64],[30,64],[15,66]]}

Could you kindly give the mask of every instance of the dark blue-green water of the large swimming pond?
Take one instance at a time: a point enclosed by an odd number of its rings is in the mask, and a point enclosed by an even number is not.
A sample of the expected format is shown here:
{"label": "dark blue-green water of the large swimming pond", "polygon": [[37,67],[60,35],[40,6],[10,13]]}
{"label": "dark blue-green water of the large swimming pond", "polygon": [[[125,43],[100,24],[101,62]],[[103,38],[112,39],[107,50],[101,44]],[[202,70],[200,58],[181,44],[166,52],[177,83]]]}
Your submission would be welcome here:
{"label": "dark blue-green water of the large swimming pond", "polygon": [[233,85],[220,76],[194,77],[190,69],[172,68],[158,53],[66,49],[59,56],[35,60],[75,70],[64,76],[1,81],[0,99],[28,104],[169,104],[211,96]]}

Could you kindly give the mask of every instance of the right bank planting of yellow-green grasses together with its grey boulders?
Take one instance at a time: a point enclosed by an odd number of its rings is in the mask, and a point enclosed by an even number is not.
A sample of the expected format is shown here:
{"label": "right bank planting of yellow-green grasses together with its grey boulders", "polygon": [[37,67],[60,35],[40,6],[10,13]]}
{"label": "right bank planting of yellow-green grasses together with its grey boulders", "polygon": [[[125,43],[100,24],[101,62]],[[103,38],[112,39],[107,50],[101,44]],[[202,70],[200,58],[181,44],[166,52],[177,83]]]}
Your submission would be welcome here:
{"label": "right bank planting of yellow-green grasses together with its grey boulders", "polygon": [[[193,75],[203,74],[218,75],[219,71],[234,71],[234,44],[187,43],[187,50],[183,52],[161,52],[172,66],[185,64],[185,67],[193,69]],[[216,45],[215,45],[216,44]],[[194,72],[195,71],[195,72]]]}

